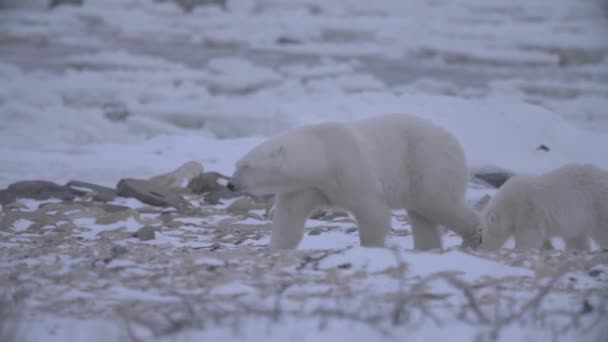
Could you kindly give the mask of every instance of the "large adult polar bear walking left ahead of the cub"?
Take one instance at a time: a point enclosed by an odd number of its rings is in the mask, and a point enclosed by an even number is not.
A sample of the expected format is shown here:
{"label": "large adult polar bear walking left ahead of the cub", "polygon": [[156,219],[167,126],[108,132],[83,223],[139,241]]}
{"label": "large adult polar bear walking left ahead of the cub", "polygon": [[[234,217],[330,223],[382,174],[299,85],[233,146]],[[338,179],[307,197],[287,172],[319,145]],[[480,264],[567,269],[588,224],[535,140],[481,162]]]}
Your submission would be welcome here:
{"label": "large adult polar bear walking left ahead of the cub", "polygon": [[384,246],[391,209],[406,209],[414,248],[441,248],[438,225],[477,247],[479,216],[465,206],[469,180],[458,140],[432,122],[392,114],[301,126],[254,147],[228,188],[276,194],[270,246],[295,249],[317,207],[353,214],[362,246]]}

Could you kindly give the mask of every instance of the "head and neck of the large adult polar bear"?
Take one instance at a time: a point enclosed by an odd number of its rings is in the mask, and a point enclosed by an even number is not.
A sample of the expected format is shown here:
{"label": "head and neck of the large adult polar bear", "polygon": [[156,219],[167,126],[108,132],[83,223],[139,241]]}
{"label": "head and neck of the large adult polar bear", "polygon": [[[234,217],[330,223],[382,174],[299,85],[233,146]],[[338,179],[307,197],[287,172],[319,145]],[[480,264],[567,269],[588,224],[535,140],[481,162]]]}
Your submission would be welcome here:
{"label": "head and neck of the large adult polar bear", "polygon": [[325,169],[324,149],[314,140],[282,134],[237,161],[228,188],[253,195],[296,192],[318,184]]}

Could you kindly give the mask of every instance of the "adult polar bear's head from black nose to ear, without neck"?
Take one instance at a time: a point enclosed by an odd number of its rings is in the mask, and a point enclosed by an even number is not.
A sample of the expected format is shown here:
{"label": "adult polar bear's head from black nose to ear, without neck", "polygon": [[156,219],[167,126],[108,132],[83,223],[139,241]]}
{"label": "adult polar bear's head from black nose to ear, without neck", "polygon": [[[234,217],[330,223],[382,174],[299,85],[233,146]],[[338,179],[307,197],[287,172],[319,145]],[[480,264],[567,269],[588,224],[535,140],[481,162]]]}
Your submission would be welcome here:
{"label": "adult polar bear's head from black nose to ear, without neck", "polygon": [[280,193],[285,183],[286,157],[285,146],[262,143],[236,162],[226,187],[254,195]]}

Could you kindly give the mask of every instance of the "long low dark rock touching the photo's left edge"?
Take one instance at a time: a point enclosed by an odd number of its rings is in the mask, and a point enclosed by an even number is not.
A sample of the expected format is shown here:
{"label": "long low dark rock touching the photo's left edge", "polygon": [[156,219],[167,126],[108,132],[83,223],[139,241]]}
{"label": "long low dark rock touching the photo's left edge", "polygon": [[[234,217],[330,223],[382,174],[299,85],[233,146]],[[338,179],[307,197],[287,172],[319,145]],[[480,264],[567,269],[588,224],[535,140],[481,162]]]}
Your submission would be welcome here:
{"label": "long low dark rock touching the photo's left edge", "polygon": [[58,198],[64,201],[71,201],[79,194],[66,186],[53,182],[43,180],[21,181],[9,185],[5,190],[0,190],[0,204],[15,202],[18,198],[37,200]]}

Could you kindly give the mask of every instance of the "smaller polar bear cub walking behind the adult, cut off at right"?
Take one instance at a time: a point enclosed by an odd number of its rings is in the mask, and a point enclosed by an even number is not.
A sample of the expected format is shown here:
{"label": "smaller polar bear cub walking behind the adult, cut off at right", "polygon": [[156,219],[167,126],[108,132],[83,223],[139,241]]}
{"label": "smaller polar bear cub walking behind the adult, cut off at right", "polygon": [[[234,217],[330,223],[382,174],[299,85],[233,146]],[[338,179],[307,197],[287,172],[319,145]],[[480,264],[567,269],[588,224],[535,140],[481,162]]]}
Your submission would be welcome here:
{"label": "smaller polar bear cub walking behind the adult, cut off at right", "polygon": [[494,250],[514,236],[519,250],[550,246],[589,250],[589,238],[608,248],[608,172],[567,164],[542,175],[509,178],[481,214],[480,249]]}

